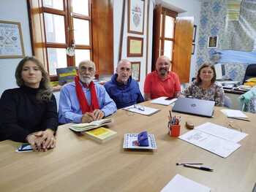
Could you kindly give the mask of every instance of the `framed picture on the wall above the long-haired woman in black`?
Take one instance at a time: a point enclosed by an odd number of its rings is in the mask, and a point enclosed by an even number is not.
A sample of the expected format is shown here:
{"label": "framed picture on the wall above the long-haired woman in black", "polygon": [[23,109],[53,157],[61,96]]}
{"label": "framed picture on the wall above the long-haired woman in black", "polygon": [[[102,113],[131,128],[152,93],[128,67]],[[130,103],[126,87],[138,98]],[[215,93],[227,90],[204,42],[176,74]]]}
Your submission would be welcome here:
{"label": "framed picture on the wall above the long-haired woman in black", "polygon": [[24,56],[20,23],[0,20],[0,58],[23,58]]}

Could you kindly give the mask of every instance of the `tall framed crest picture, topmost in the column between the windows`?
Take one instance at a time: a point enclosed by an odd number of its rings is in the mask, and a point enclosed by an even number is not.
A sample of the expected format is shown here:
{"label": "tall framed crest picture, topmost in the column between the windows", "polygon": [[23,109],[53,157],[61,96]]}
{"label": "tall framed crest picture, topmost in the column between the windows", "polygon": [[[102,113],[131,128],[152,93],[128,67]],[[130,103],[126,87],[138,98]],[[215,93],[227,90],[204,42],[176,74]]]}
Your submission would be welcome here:
{"label": "tall framed crest picture, topmost in the column between the windows", "polygon": [[144,32],[144,0],[128,1],[128,32],[143,34]]}

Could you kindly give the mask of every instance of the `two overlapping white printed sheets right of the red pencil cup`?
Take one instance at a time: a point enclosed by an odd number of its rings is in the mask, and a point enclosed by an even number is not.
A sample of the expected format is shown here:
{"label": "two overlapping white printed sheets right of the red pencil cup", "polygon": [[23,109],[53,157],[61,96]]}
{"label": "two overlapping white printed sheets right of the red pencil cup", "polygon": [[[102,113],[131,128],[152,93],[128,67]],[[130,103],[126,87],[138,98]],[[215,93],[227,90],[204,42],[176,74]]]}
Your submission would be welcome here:
{"label": "two overlapping white printed sheets right of the red pencil cup", "polygon": [[237,142],[244,139],[246,135],[245,133],[218,126],[214,123],[203,123],[178,138],[223,158],[227,158],[228,155],[241,147]]}

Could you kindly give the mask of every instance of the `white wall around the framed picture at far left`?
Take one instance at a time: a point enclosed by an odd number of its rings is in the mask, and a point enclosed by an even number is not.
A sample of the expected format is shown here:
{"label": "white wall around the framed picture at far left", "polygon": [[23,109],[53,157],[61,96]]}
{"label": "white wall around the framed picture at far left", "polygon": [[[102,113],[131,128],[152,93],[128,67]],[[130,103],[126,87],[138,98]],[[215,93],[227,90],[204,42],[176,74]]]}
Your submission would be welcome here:
{"label": "white wall around the framed picture at far left", "polygon": [[[20,22],[25,55],[32,55],[29,33],[29,17],[26,0],[1,0],[0,20]],[[7,88],[17,87],[15,69],[21,58],[0,58],[0,96]]]}

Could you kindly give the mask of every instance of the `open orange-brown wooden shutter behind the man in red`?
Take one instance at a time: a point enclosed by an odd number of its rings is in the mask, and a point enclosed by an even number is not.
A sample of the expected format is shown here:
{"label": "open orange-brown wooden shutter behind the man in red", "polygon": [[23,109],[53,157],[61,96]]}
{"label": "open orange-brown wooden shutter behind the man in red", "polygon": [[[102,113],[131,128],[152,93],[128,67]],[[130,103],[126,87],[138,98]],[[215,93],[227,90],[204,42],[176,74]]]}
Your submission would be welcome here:
{"label": "open orange-brown wooden shutter behind the man in red", "polygon": [[193,17],[176,18],[172,71],[181,82],[189,82],[193,26]]}

